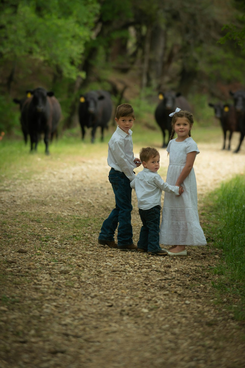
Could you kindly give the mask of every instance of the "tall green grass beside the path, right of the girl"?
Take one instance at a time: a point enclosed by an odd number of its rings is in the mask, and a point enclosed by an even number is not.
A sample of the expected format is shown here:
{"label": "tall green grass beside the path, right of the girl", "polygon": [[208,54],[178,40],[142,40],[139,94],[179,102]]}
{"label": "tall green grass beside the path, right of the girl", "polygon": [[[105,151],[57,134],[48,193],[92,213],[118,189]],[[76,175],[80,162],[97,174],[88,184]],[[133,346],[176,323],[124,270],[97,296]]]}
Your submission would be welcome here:
{"label": "tall green grass beside the path, right of the girl", "polygon": [[205,220],[209,223],[212,247],[222,250],[217,266],[212,272],[219,275],[212,282],[218,300],[232,296],[229,308],[234,317],[245,320],[245,177],[236,176],[223,183],[205,199],[208,203]]}

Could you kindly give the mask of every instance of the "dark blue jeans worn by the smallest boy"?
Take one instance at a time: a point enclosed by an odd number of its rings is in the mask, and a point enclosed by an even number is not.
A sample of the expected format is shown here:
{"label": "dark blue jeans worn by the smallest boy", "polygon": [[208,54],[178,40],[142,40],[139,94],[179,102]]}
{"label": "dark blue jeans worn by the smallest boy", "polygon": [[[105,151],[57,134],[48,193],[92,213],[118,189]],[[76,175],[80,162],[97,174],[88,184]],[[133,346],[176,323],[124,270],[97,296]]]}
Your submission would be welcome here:
{"label": "dark blue jeans worn by the smallest boy", "polygon": [[139,209],[143,226],[140,229],[138,249],[144,249],[146,252],[157,252],[162,249],[159,245],[160,210],[160,206]]}

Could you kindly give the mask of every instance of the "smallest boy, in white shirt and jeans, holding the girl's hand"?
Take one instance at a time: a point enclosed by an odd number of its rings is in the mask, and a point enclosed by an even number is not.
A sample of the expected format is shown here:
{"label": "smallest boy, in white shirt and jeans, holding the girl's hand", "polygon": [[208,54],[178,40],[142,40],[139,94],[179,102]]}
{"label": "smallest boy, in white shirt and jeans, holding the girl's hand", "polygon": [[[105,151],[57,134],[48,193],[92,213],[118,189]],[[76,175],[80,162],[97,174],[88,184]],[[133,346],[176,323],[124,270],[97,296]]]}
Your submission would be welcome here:
{"label": "smallest boy, in white shirt and jeans, holding the girl's hand", "polygon": [[140,161],[144,169],[130,183],[136,192],[139,215],[143,224],[137,244],[138,251],[152,255],[167,255],[168,252],[159,245],[161,194],[165,191],[180,195],[183,189],[165,183],[157,173],[160,167],[160,154],[156,148],[142,148]]}

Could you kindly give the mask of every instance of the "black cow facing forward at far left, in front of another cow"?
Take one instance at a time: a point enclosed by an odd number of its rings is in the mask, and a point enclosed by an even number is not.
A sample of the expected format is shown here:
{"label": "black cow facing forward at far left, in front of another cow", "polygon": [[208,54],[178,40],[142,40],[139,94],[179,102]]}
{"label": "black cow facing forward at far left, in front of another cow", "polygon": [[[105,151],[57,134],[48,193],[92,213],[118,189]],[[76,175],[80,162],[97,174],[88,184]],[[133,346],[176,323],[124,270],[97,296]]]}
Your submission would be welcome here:
{"label": "black cow facing forward at far left, in front of another cow", "polygon": [[30,134],[30,150],[37,149],[39,136],[44,133],[45,153],[49,154],[48,143],[57,131],[61,117],[61,106],[54,97],[54,92],[47,92],[44,88],[26,91],[31,97],[24,103],[21,116]]}

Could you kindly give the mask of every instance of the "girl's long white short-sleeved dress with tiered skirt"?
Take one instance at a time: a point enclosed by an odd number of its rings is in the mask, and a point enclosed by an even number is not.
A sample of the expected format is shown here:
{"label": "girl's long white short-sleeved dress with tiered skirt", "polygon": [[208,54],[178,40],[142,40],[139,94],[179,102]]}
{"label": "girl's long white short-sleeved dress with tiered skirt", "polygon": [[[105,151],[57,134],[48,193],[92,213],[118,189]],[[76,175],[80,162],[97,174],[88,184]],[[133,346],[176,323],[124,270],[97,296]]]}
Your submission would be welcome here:
{"label": "girl's long white short-sleeved dress with tiered skirt", "polygon": [[[189,152],[200,151],[191,137],[183,142],[169,141],[169,167],[166,182],[175,185]],[[199,222],[197,211],[197,182],[194,169],[183,181],[184,192],[179,197],[164,193],[160,244],[164,245],[206,245],[206,238]]]}

